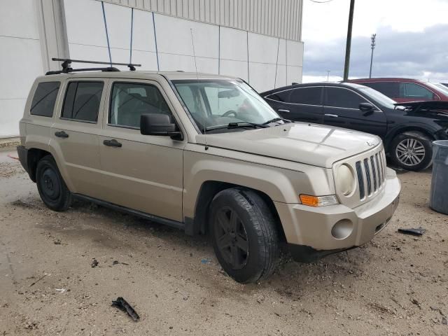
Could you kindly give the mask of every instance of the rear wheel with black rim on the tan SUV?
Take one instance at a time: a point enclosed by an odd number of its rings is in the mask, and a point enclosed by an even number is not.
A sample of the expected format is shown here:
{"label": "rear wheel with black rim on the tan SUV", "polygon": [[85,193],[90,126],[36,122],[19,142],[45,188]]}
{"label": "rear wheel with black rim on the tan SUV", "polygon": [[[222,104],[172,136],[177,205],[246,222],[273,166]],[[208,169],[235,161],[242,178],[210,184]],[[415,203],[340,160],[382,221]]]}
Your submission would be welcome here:
{"label": "rear wheel with black rim on the tan SUV", "polygon": [[45,205],[54,211],[65,211],[71,204],[71,193],[62,179],[55,159],[47,155],[36,167],[36,184]]}

